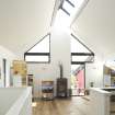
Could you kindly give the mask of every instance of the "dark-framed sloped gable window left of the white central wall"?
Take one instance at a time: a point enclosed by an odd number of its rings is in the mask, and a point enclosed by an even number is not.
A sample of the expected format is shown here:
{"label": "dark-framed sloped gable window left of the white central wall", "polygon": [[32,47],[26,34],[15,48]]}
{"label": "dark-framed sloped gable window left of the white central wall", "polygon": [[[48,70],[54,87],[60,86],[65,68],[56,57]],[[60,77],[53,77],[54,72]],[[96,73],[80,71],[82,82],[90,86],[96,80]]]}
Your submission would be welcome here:
{"label": "dark-framed sloped gable window left of the white central wall", "polygon": [[47,34],[25,54],[26,62],[49,62],[50,61],[50,34]]}

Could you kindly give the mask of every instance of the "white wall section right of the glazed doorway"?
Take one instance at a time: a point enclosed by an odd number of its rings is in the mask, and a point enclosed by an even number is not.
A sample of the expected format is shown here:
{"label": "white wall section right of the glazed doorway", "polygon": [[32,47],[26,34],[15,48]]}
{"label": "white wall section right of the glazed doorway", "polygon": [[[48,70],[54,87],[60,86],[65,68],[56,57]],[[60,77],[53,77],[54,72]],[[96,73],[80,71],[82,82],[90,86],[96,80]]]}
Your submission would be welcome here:
{"label": "white wall section right of the glazed doorway", "polygon": [[103,61],[96,56],[93,64],[85,65],[87,88],[90,88],[90,82],[94,82],[94,87],[103,87]]}

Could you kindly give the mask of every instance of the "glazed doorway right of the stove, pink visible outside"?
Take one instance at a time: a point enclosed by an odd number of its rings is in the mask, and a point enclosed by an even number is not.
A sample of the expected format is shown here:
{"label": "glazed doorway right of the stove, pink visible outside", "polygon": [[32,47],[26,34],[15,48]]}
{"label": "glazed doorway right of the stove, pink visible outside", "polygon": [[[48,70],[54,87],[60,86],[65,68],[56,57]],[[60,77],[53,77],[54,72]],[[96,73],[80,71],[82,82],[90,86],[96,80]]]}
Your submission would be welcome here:
{"label": "glazed doorway right of the stove, pink visible outside", "polygon": [[71,95],[84,95],[85,88],[85,65],[71,65]]}

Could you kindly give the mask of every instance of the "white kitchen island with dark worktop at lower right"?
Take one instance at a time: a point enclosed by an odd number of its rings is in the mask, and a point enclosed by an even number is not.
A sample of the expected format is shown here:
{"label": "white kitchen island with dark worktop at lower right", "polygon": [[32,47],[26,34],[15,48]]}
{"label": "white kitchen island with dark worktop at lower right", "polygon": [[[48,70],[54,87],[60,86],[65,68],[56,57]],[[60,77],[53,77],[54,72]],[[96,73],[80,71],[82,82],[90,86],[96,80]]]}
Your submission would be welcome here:
{"label": "white kitchen island with dark worktop at lower right", "polygon": [[91,115],[115,115],[115,88],[91,88]]}

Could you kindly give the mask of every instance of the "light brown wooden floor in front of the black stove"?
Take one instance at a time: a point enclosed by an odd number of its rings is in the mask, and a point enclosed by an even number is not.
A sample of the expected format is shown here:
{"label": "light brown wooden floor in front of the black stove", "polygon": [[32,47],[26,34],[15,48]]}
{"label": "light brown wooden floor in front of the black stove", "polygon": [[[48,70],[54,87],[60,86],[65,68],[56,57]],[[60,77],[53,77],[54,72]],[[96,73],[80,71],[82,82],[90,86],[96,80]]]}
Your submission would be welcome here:
{"label": "light brown wooden floor in front of the black stove", "polygon": [[85,115],[78,107],[78,97],[68,100],[37,101],[33,115]]}

